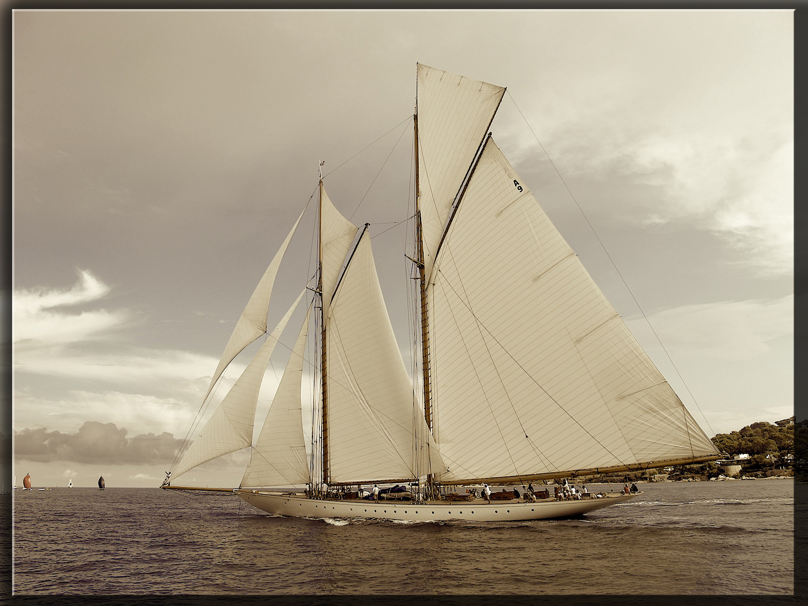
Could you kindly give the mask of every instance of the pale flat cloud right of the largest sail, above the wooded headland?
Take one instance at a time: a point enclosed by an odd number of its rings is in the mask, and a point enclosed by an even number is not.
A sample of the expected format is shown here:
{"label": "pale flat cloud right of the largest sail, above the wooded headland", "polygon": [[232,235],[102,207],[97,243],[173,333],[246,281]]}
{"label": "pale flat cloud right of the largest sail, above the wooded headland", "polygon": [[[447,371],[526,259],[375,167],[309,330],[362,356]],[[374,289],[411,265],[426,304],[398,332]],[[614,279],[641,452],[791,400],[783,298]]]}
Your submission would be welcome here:
{"label": "pale flat cloud right of the largest sail, above the wooded headland", "polygon": [[[659,340],[671,351],[750,360],[770,351],[774,339],[793,335],[794,297],[776,300],[719,301],[665,309],[648,317]],[[627,319],[635,334],[645,320]]]}

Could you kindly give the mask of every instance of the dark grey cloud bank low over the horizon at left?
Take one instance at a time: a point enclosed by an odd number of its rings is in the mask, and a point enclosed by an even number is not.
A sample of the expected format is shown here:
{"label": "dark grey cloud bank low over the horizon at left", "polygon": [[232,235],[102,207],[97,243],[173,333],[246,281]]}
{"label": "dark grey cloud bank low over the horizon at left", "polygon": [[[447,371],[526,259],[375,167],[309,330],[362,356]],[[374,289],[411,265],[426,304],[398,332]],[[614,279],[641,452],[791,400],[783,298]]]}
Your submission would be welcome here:
{"label": "dark grey cloud bank low over the horizon at left", "polygon": [[86,421],[76,433],[47,428],[15,432],[15,455],[26,461],[75,461],[78,463],[170,463],[182,440],[164,431],[126,436],[115,423]]}

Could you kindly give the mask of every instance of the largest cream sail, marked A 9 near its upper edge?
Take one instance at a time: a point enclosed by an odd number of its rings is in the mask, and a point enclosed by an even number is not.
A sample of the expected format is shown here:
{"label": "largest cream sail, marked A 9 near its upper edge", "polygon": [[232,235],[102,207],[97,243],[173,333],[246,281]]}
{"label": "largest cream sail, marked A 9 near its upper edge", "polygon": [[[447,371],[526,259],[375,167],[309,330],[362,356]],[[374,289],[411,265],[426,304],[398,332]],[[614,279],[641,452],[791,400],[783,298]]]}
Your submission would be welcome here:
{"label": "largest cream sail, marked A 9 near its upper edge", "polygon": [[433,279],[441,480],[717,453],[493,141]]}

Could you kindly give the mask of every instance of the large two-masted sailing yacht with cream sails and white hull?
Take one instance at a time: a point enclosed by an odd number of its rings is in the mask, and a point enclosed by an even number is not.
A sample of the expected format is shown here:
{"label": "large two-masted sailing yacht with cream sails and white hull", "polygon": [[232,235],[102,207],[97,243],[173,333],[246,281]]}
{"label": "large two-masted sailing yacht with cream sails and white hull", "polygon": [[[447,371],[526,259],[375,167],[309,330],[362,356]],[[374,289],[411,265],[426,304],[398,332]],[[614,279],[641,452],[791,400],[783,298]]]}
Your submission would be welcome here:
{"label": "large two-masted sailing yacht with cream sails and white hull", "polygon": [[[417,66],[415,245],[406,251],[417,289],[415,380],[393,335],[370,226],[339,213],[321,172],[308,288],[270,332],[273,284],[301,213],[238,319],[205,400],[240,351],[260,337],[263,344],[162,488],[199,490],[177,478],[250,448],[238,487],[219,490],[271,514],[537,520],[635,494],[569,499],[551,486],[524,487],[532,482],[721,457],[494,143],[489,128],[504,92]],[[305,320],[253,444],[264,370],[305,292]],[[317,377],[307,406],[304,369]],[[383,494],[363,498],[380,485]],[[481,498],[477,490],[489,485],[503,490]]]}

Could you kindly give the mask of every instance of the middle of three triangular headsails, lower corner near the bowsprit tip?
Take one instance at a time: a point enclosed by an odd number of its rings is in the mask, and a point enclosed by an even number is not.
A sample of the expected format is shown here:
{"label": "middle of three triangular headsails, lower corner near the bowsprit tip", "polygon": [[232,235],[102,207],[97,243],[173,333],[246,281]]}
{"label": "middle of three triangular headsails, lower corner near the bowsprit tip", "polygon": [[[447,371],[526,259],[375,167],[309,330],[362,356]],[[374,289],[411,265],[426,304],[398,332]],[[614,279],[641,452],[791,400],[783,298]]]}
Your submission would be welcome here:
{"label": "middle of three triangular headsails, lower corner near the bowsprit tip", "polygon": [[250,364],[247,364],[241,377],[238,377],[217,410],[208,419],[208,423],[205,423],[199,436],[183,453],[183,457],[175,468],[171,470],[172,478],[177,478],[205,461],[241,450],[252,444],[255,406],[258,402],[264,371],[281,333],[302,297],[303,292],[297,297],[272,334],[267,336],[267,340],[261,345]]}

